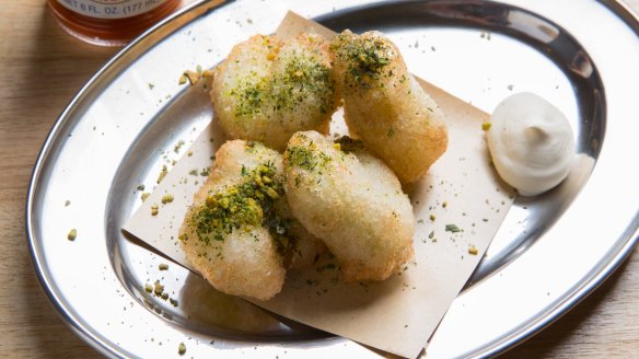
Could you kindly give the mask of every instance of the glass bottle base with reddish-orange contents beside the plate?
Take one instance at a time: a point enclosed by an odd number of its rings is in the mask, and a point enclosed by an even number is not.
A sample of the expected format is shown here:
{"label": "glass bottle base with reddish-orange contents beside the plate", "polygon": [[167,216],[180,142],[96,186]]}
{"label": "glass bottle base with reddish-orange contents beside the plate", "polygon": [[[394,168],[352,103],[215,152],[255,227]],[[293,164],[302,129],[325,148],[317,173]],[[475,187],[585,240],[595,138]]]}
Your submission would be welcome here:
{"label": "glass bottle base with reddish-orange contents beside the plate", "polygon": [[181,0],[48,0],[62,28],[103,46],[126,45],[179,4]]}

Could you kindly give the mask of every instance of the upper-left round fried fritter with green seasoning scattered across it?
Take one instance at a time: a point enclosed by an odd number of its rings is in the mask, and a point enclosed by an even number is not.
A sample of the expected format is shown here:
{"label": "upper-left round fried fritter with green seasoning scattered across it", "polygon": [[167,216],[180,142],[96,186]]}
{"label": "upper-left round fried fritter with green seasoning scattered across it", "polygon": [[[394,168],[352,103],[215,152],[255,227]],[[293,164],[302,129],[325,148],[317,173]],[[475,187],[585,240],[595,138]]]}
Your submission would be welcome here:
{"label": "upper-left round fried fritter with green seasoning scattered across it", "polygon": [[300,130],[328,130],[337,107],[328,43],[300,34],[284,42],[256,35],[233,47],[211,89],[216,118],[233,139],[283,151]]}

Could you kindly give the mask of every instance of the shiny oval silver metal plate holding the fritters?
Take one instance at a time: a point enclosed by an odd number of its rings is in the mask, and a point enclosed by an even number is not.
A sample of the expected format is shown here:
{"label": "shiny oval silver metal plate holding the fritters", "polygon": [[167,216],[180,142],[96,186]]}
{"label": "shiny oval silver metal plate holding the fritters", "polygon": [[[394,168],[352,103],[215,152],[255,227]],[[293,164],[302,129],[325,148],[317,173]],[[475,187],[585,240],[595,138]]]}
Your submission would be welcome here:
{"label": "shiny oval silver metal plate holding the fritters", "polygon": [[[536,92],[578,134],[580,171],[516,200],[422,354],[511,347],[592,291],[637,244],[639,24],[620,4],[198,3],[142,35],[78,93],[34,169],[26,225],[36,273],[101,352],[177,356],[184,343],[194,357],[380,355],[221,294],[177,265],[160,270],[167,260],[119,230],[162,166],[184,154],[178,141],[195,139],[212,117],[204,89],[177,84],[182,71],[213,67],[235,43],[271,33],[287,10],[336,31],[384,31],[417,76],[486,112],[512,93]],[[143,290],[155,280],[177,306]]]}

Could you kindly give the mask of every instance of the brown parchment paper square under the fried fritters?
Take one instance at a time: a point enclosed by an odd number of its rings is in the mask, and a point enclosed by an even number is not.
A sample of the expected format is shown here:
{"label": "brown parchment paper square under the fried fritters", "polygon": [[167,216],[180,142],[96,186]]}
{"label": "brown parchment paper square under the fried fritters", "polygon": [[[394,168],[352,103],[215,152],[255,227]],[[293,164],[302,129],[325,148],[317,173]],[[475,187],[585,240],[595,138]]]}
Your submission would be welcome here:
{"label": "brown parchment paper square under the fried fritters", "polygon": [[[302,31],[334,35],[293,13],[276,33],[290,37]],[[450,137],[446,152],[429,174],[406,188],[417,220],[415,260],[383,282],[345,285],[335,259],[325,256],[314,266],[289,271],[274,299],[248,301],[403,357],[417,357],[425,348],[486,252],[514,194],[490,165],[481,130],[489,116],[426,81],[420,83],[446,115]],[[187,268],[177,231],[198,186],[186,178],[194,169],[211,165],[210,157],[224,142],[216,127],[211,123],[205,129],[189,148],[193,154],[176,163],[123,228]],[[334,116],[332,132],[347,134],[341,112]],[[161,205],[165,194],[174,200]],[[156,216],[151,216],[152,205],[160,206]],[[460,231],[446,230],[449,224]]]}

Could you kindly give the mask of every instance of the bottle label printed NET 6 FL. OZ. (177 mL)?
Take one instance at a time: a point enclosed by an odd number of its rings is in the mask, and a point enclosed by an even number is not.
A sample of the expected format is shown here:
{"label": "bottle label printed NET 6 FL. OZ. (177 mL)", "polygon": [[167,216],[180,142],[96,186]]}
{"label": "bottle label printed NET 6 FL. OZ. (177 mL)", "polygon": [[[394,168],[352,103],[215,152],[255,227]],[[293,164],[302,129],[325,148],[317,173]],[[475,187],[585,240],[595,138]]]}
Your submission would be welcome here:
{"label": "bottle label printed NET 6 FL. OZ. (177 mL)", "polygon": [[81,15],[98,19],[123,19],[151,11],[166,0],[57,0]]}

